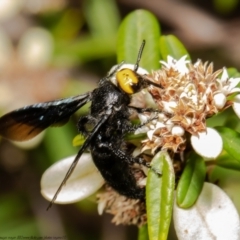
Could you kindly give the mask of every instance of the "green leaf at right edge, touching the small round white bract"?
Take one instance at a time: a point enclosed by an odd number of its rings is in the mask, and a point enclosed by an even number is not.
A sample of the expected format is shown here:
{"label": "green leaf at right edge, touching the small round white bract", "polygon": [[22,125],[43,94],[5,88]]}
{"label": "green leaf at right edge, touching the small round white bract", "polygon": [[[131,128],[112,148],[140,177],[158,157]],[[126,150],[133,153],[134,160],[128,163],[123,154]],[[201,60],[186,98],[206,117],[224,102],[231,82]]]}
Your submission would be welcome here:
{"label": "green leaf at right edge, touching the small round white bract", "polygon": [[226,127],[215,127],[223,140],[223,149],[234,159],[240,161],[240,133]]}

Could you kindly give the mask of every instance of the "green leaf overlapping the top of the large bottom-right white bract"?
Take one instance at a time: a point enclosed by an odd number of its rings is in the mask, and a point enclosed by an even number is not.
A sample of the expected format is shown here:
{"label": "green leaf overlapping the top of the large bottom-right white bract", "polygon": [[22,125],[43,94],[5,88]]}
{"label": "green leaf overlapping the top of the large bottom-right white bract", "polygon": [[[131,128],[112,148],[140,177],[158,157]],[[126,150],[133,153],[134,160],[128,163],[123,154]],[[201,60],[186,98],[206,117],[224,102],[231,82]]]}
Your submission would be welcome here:
{"label": "green leaf overlapping the top of the large bottom-right white bract", "polygon": [[177,204],[190,208],[202,191],[206,167],[202,157],[193,153],[189,156],[177,187]]}

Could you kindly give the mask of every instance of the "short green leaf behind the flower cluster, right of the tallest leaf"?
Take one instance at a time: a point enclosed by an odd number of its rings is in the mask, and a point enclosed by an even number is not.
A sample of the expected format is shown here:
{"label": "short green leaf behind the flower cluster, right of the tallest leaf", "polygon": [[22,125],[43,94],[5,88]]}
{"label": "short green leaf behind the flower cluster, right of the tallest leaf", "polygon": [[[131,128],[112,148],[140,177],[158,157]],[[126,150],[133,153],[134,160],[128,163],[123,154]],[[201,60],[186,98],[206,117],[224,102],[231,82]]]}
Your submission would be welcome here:
{"label": "short green leaf behind the flower cluster, right of the tallest leaf", "polygon": [[160,37],[160,53],[161,58],[164,61],[167,61],[168,55],[177,60],[187,55],[187,59],[191,60],[190,55],[188,54],[184,45],[173,35]]}

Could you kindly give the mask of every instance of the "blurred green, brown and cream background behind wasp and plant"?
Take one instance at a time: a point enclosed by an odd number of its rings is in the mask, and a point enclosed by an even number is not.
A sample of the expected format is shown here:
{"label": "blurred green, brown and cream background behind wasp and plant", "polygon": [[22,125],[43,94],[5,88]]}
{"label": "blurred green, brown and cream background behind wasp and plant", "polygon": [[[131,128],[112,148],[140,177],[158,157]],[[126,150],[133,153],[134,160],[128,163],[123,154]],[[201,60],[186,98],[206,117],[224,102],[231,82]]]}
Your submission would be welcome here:
{"label": "blurred green, brown and cream background behind wasp and plant", "polygon": [[[175,34],[183,42],[193,62],[201,58],[214,61],[216,69],[240,69],[238,0],[1,0],[0,114],[94,89],[116,64],[121,20],[140,8],[156,15],[162,34]],[[66,126],[48,129],[34,146],[0,140],[2,239],[137,239],[136,227],[115,226],[111,216],[98,216],[92,199],[46,211],[41,175],[55,161],[76,154],[76,122],[87,111],[88,106]],[[216,181],[231,196],[239,189],[238,175],[232,171],[232,180]]]}

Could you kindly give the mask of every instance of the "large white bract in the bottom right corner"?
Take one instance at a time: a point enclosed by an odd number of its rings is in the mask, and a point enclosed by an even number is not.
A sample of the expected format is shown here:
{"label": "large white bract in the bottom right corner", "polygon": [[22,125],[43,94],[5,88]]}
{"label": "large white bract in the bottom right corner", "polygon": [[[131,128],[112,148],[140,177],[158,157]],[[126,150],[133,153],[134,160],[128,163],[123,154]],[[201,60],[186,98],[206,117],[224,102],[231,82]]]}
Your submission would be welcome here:
{"label": "large white bract in the bottom right corner", "polygon": [[235,206],[218,186],[204,183],[195,205],[173,209],[174,227],[179,240],[239,240],[240,222]]}

